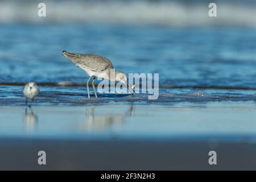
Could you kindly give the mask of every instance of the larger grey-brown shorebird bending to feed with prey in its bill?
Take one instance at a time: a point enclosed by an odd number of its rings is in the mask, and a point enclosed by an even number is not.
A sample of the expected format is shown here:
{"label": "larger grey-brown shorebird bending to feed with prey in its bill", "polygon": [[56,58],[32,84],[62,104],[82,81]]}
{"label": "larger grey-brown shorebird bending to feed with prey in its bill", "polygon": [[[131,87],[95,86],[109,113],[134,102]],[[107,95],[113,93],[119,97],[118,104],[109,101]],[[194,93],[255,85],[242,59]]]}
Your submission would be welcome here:
{"label": "larger grey-brown shorebird bending to feed with prey in its bill", "polygon": [[135,85],[130,85],[127,83],[127,77],[125,73],[121,71],[115,71],[114,72],[115,77],[114,78],[110,77],[110,70],[114,69],[114,67],[111,61],[106,57],[103,57],[100,55],[92,55],[92,54],[71,53],[67,51],[62,51],[62,53],[64,57],[71,60],[77,67],[81,68],[83,71],[85,71],[89,75],[89,78],[86,81],[88,98],[90,98],[90,94],[89,94],[90,78],[93,77],[92,86],[93,86],[95,97],[97,98],[94,81],[95,81],[95,78],[97,77],[102,78],[102,75],[105,75],[103,77],[105,80],[123,82],[123,84],[125,84],[127,88],[130,90],[131,94],[135,93],[134,92]]}

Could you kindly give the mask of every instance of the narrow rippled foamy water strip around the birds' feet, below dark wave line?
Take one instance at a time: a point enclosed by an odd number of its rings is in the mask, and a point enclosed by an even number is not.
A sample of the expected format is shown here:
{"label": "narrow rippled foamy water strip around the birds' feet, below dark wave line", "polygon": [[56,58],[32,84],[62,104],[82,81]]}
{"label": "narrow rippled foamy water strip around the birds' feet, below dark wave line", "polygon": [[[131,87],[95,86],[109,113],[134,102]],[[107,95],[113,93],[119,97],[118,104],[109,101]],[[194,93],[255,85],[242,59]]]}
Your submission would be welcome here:
{"label": "narrow rippled foamy water strip around the birds' feet, below dark wave line", "polygon": [[[0,105],[25,105],[22,86],[4,86],[0,90]],[[256,101],[255,92],[233,90],[233,92],[220,92],[220,90],[196,90],[189,89],[160,89],[157,100],[148,100],[148,94],[98,94],[94,98],[91,90],[91,98],[87,98],[84,86],[78,87],[52,87],[40,86],[40,93],[33,105],[101,105],[112,103],[136,103],[136,104],[175,104],[182,102],[220,102],[220,101]]]}

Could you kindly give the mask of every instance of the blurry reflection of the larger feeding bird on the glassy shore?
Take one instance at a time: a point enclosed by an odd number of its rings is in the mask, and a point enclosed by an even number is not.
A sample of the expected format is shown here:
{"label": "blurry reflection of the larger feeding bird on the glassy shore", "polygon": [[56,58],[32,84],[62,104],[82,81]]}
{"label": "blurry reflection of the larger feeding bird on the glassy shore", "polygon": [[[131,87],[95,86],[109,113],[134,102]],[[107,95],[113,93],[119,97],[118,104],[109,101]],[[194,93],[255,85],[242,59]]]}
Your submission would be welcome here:
{"label": "blurry reflection of the larger feeding bird on the glassy shore", "polygon": [[86,107],[86,121],[82,124],[82,130],[84,131],[103,131],[113,125],[120,125],[125,122],[126,117],[130,117],[134,114],[134,106],[130,105],[123,113],[109,113],[104,115],[94,114],[94,110],[97,106]]}

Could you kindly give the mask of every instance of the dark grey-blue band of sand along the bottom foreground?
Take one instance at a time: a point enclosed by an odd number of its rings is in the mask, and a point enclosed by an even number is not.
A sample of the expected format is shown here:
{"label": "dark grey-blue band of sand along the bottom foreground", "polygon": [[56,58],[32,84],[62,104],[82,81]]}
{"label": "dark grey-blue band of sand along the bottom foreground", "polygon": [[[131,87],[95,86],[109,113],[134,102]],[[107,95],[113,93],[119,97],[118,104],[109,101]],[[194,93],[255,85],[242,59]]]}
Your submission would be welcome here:
{"label": "dark grey-blue band of sand along the bottom foreground", "polygon": [[[46,166],[38,151],[46,151]],[[217,152],[217,165],[208,152]],[[14,170],[255,170],[256,145],[175,140],[1,139],[0,169]]]}

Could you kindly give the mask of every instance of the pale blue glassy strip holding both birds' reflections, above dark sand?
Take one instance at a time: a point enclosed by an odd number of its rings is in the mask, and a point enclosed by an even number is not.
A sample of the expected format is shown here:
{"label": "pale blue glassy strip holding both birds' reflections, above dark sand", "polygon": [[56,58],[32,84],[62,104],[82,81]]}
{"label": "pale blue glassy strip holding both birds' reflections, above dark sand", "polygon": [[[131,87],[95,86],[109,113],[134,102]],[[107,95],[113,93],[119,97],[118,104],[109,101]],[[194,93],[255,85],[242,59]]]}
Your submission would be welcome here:
{"label": "pale blue glassy strip holding both birds' reflections, above dark sand", "polygon": [[[255,142],[255,102],[1,106],[2,138]],[[214,113],[214,114],[213,114]]]}

